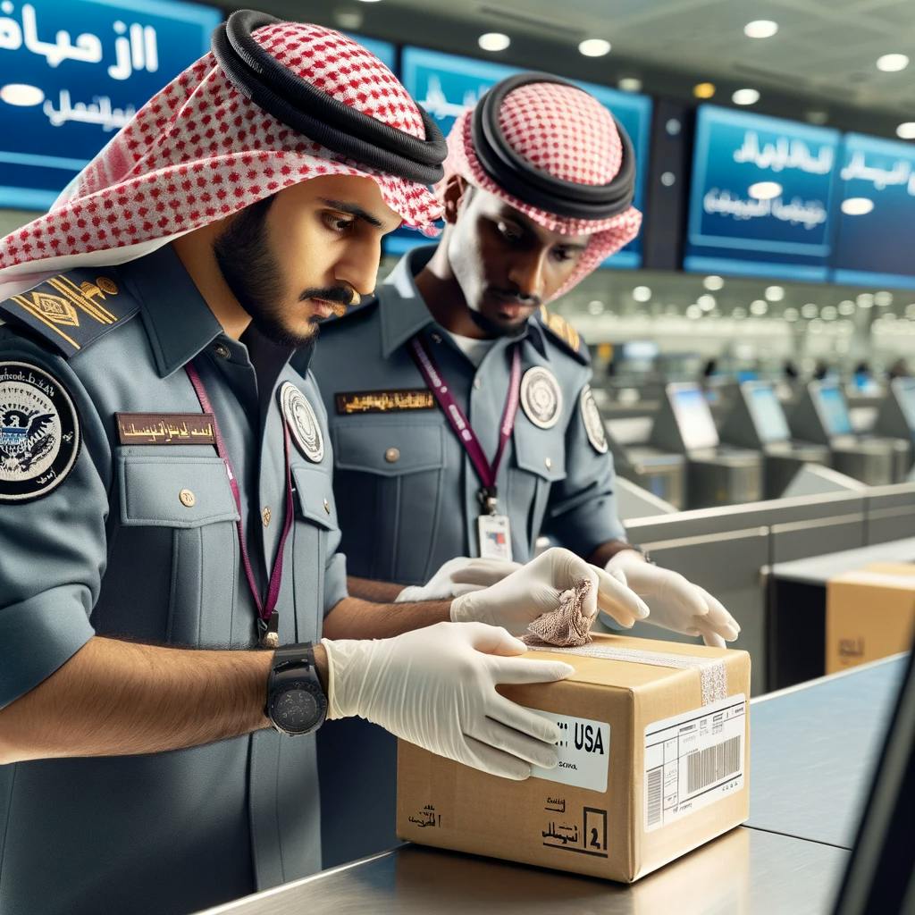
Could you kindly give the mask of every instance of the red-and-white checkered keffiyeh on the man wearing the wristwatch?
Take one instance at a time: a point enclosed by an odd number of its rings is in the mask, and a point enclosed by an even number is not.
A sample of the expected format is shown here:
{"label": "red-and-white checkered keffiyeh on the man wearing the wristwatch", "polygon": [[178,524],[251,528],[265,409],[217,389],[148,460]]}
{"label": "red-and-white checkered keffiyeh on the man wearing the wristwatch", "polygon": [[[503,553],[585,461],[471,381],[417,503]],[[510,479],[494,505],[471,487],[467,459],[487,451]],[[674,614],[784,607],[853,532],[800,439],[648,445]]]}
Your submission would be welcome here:
{"label": "red-and-white checkered keffiyeh on the man wearing the wristwatch", "polygon": [[[328,95],[425,139],[416,103],[351,38],[294,22],[254,37]],[[208,53],[146,102],[48,213],[0,239],[0,299],[77,265],[123,264],[319,175],[373,178],[405,224],[437,233],[442,208],[428,188],[296,134],[238,92]]]}

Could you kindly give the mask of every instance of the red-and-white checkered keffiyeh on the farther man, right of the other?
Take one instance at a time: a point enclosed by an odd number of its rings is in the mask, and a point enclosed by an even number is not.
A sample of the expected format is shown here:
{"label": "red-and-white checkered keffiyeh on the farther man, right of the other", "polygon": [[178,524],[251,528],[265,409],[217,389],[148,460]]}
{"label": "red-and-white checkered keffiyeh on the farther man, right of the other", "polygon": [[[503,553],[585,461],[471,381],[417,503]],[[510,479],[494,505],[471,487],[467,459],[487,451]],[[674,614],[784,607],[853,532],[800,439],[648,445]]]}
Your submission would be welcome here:
{"label": "red-and-white checkered keffiyeh on the farther man, right of the other", "polygon": [[[471,112],[463,113],[448,134],[445,178],[436,184],[441,199],[448,178],[460,175],[488,190],[548,231],[591,236],[575,273],[553,296],[564,296],[610,254],[639,234],[641,213],[634,207],[606,220],[581,220],[532,207],[500,188],[483,171],[473,149]],[[578,184],[608,184],[619,172],[622,145],[608,110],[594,96],[573,86],[533,82],[519,86],[499,111],[502,134],[511,148],[533,167]]]}

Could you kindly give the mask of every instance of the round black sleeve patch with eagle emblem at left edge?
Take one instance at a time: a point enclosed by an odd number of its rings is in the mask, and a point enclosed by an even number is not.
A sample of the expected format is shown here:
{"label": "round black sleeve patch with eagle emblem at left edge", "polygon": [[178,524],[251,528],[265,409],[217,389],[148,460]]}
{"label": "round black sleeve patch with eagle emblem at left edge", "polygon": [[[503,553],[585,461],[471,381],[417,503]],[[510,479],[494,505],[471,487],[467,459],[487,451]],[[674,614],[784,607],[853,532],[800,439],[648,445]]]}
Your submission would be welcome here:
{"label": "round black sleeve patch with eagle emblem at left edge", "polygon": [[0,502],[57,489],[80,444],[80,418],[64,386],[37,365],[0,362]]}

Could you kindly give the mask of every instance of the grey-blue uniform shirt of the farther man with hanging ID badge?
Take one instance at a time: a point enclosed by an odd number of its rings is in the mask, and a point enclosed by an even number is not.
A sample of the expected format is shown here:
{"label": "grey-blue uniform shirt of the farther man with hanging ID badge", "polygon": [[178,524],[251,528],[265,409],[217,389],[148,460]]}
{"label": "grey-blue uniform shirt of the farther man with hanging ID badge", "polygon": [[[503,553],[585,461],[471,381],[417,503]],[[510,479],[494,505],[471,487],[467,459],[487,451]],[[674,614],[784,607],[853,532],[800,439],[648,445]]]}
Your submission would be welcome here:
{"label": "grey-blue uniform shirt of the farther man with hanging ID badge", "polygon": [[[321,328],[311,363],[328,409],[350,575],[421,585],[448,559],[479,554],[480,483],[473,465],[435,404],[406,408],[409,392],[425,389],[409,341],[427,335],[443,378],[490,459],[515,341],[497,340],[477,368],[436,325],[413,279],[434,250],[407,254],[379,287],[376,301]],[[613,461],[599,447],[602,430],[591,425],[589,435],[582,408],[591,377],[587,348],[569,345],[539,315],[529,321],[520,346],[522,372],[549,371],[562,404],[552,425],[542,428],[522,397],[497,480],[499,509],[511,520],[512,554],[526,562],[545,533],[587,556],[598,544],[625,539]],[[358,412],[372,400],[380,403],[378,394],[393,395],[387,403],[401,408]]]}

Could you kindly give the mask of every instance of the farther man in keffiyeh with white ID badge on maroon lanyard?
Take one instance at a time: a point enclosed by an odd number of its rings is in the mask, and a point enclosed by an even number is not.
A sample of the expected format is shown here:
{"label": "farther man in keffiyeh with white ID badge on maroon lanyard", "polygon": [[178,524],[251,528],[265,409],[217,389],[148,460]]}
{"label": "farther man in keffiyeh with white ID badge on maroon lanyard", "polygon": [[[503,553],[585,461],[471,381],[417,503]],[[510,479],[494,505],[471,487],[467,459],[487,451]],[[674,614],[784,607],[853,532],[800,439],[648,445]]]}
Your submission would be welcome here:
{"label": "farther man in keffiyeh with white ID badge on maroon lanyard", "polygon": [[[547,309],[639,231],[629,137],[576,85],[522,73],[458,117],[447,145],[440,242],[322,328],[311,363],[350,592],[472,600],[543,533],[638,595],[611,625],[647,616],[724,647],[739,627],[720,602],[627,543],[587,345]],[[323,823],[326,862],[392,845],[393,740],[332,722],[318,759],[325,798],[355,786]],[[355,810],[375,811],[358,832],[345,828]]]}

